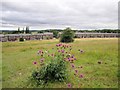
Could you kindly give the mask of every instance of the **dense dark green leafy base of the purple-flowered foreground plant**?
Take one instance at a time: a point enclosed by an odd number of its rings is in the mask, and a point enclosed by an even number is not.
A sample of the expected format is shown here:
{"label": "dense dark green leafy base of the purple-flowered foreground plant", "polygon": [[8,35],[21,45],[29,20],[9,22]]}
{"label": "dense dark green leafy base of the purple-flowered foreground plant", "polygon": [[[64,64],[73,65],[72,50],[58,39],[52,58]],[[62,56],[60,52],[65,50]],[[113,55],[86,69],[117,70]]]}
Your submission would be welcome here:
{"label": "dense dark green leafy base of the purple-flowered foreground plant", "polygon": [[54,81],[62,82],[67,79],[66,77],[66,62],[61,56],[56,57],[54,61],[32,73],[32,80],[37,85]]}

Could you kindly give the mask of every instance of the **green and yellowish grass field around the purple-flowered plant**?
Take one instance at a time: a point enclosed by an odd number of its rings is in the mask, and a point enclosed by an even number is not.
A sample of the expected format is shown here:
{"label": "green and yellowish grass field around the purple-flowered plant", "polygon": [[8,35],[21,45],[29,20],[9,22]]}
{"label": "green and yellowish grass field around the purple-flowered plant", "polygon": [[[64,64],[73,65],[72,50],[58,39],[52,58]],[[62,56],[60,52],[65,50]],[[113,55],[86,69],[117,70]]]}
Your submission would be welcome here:
{"label": "green and yellowish grass field around the purple-flowered plant", "polygon": [[[35,69],[34,60],[38,60],[37,51],[55,47],[58,40],[4,42],[2,43],[2,87],[33,87],[28,84],[28,77]],[[118,88],[118,39],[76,39],[70,43],[72,53],[77,57],[75,62],[83,66],[84,74],[78,82],[70,74],[73,88]],[[85,52],[78,54],[77,50]],[[98,64],[101,61],[101,64]],[[46,88],[67,88],[66,83],[49,83]],[[34,87],[33,87],[34,88]]]}

